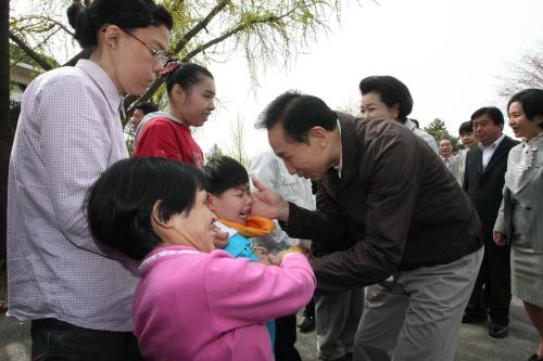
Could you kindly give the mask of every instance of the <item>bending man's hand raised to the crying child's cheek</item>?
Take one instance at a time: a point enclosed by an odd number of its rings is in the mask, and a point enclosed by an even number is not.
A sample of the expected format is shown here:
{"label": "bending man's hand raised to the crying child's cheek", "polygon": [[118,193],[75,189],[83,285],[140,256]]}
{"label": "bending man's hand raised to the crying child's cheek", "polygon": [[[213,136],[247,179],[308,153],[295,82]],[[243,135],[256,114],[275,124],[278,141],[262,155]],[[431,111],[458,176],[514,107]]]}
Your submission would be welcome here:
{"label": "bending man's hand raised to the crying child's cheek", "polygon": [[264,185],[255,177],[253,177],[253,184],[255,190],[251,193],[253,199],[251,216],[288,221],[289,203],[278,192]]}

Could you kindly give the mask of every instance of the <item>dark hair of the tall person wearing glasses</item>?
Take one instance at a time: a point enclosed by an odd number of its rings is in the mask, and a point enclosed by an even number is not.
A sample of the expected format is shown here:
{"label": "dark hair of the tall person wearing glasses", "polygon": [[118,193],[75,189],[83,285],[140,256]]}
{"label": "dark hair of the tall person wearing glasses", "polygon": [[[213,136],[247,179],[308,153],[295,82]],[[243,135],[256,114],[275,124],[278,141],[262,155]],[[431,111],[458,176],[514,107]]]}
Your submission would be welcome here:
{"label": "dark hair of the tall person wearing glasses", "polygon": [[67,18],[83,49],[98,44],[98,31],[105,24],[127,30],[150,25],[164,25],[168,29],[174,26],[169,12],[152,0],[94,0],[88,8],[74,1],[67,9]]}

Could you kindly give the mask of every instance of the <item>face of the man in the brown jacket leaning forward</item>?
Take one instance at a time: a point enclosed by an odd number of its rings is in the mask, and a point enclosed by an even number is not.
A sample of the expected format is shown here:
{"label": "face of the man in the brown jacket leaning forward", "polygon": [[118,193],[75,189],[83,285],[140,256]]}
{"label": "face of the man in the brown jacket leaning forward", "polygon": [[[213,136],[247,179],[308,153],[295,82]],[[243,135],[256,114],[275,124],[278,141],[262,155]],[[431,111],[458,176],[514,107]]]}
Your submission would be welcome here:
{"label": "face of the man in the brown jacket leaning forward", "polygon": [[289,173],[320,180],[330,168],[326,151],[328,139],[312,136],[312,130],[308,134],[307,143],[293,141],[287,137],[282,124],[278,123],[268,129],[268,142],[275,154],[285,162]]}

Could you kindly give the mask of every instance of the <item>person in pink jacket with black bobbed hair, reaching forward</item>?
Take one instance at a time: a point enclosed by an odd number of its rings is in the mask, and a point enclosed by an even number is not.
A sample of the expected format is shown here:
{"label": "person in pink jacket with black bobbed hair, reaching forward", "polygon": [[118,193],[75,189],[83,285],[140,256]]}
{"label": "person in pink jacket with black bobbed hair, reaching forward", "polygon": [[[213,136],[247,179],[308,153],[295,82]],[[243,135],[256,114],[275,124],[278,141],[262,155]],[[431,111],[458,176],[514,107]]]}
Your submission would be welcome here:
{"label": "person in pink jacket with black bobbed hair, reaching forward", "polygon": [[135,335],[147,360],[273,360],[266,321],[313,296],[305,256],[265,266],[214,250],[203,175],[162,158],[130,158],[92,186],[88,218],[104,245],[141,260]]}

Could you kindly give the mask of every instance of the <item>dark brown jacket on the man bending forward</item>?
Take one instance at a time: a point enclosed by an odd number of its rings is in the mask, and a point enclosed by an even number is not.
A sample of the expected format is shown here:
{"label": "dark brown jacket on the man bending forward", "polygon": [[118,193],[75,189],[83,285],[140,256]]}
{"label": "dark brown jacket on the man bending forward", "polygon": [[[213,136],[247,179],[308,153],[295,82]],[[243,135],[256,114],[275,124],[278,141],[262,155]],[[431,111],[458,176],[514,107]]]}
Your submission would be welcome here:
{"label": "dark brown jacket on the man bending forward", "polygon": [[381,282],[401,270],[457,260],[482,246],[480,223],[439,156],[399,123],[338,114],[341,178],[323,179],[321,211],[290,204],[292,236],[357,243],[312,260],[318,288],[336,292]]}

